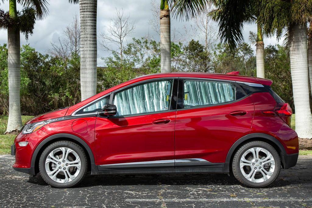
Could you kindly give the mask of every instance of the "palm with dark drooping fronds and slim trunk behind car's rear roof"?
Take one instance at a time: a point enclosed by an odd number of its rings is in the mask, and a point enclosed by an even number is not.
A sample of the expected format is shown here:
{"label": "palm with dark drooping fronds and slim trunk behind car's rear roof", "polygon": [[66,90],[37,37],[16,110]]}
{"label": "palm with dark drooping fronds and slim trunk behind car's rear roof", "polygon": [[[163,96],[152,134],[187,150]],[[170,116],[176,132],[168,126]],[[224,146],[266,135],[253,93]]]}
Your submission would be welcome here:
{"label": "palm with dark drooping fronds and slim trunk behind car's rear roof", "polygon": [[[256,22],[257,12],[254,1],[251,0],[211,0],[217,9],[209,12],[214,21],[219,22],[219,36],[225,40],[231,50],[243,40],[242,30],[244,23]],[[257,22],[256,37],[256,64],[257,77],[265,78],[264,70],[264,43],[262,26]]]}

